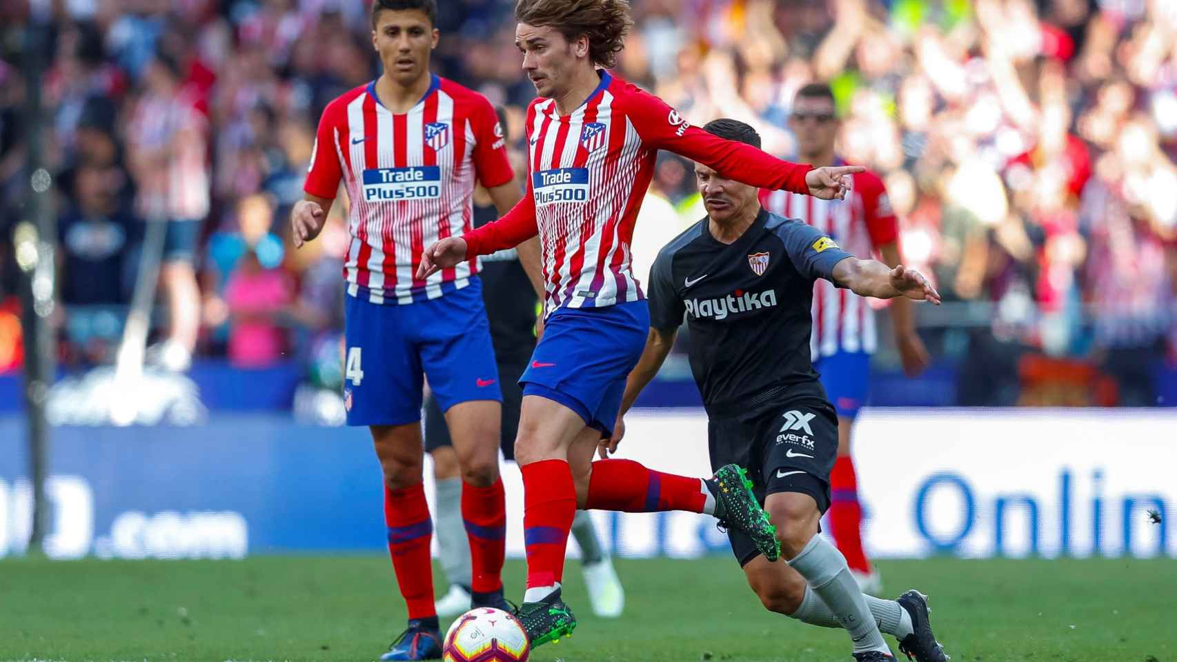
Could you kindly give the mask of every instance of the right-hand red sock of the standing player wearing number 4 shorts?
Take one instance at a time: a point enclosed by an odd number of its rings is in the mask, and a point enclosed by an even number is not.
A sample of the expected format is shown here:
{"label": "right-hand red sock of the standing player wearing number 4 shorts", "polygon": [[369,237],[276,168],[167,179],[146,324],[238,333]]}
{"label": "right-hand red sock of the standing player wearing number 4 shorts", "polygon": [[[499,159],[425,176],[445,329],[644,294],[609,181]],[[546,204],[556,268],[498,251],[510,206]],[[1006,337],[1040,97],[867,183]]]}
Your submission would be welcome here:
{"label": "right-hand red sock of the standing player wearing number 4 shorts", "polygon": [[507,515],[503,481],[490,487],[461,484],[461,520],[470,539],[470,588],[491,593],[503,588]]}

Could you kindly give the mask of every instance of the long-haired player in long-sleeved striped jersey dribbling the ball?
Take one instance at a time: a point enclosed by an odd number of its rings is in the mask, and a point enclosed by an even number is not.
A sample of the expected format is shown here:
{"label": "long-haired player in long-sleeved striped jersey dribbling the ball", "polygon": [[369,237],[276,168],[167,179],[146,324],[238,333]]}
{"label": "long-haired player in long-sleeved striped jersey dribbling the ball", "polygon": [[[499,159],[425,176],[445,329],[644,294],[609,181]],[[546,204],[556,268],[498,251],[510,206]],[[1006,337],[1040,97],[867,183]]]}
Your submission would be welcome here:
{"label": "long-haired player in long-sleeved striped jersey dribbling the ball", "polygon": [[[658,151],[753,186],[822,198],[844,196],[849,175],[863,168],[780,161],[691,126],[657,96],[612,76],[606,69],[631,26],[626,0],[519,0],[516,19],[523,69],[539,95],[527,108],[526,195],[498,221],[430,246],[417,275],[431,277],[539,235],[547,319],[519,380],[516,439],[527,548],[518,617],[536,647],[576,627],[560,580],[578,507],[711,513],[776,544],[734,467],[700,481],[630,460],[592,462],[598,440],[613,429],[650,328],[630,269],[630,240]],[[730,502],[736,494],[747,499]],[[779,547],[763,553],[774,560]]]}

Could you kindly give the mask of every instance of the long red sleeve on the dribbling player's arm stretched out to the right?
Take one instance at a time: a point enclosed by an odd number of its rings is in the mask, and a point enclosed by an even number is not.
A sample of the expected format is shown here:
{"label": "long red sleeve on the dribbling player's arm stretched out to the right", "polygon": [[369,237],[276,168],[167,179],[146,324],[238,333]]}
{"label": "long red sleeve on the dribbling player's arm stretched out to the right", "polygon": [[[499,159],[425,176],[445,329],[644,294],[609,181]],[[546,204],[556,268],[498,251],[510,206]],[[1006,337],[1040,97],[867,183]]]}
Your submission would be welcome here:
{"label": "long red sleeve on the dribbling player's arm stretched out to the right", "polygon": [[624,94],[625,114],[647,146],[686,156],[751,186],[809,194],[805,173],[812,166],[782,161],[751,145],[711,135],[687,123],[661,99],[632,85],[626,85]]}

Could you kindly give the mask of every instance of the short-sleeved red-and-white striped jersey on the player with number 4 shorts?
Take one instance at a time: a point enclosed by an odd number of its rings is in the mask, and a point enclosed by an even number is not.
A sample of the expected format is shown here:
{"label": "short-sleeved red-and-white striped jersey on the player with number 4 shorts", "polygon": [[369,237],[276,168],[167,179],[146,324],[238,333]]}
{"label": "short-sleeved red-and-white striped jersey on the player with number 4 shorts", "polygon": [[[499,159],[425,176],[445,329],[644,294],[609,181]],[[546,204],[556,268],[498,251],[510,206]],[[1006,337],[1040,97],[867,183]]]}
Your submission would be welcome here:
{"label": "short-sleeved red-and-white striped jersey on the player with number 4 shorts", "polygon": [[513,178],[503,127],[477,92],[433,76],[412,109],[393,114],[373,81],[328,103],[304,190],[331,199],[340,180],[347,187],[347,293],[412,303],[470,285],[474,258],[426,280],[415,274],[426,246],[470,230],[476,176],[487,188]]}

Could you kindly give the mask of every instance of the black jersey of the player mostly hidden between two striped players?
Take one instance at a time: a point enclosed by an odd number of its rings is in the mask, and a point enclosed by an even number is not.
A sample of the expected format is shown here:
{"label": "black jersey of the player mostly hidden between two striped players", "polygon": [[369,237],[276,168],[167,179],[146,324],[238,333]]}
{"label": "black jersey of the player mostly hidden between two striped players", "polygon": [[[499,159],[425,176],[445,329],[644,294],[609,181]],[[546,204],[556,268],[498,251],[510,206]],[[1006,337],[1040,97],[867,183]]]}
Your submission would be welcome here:
{"label": "black jersey of the player mostly hidden between two striped players", "polygon": [[[498,218],[494,207],[474,206],[474,227]],[[536,296],[527,272],[519,262],[514,248],[483,255],[479,275],[483,279],[483,301],[486,321],[491,326],[491,342],[499,363],[525,365],[536,349]]]}

